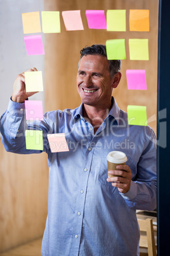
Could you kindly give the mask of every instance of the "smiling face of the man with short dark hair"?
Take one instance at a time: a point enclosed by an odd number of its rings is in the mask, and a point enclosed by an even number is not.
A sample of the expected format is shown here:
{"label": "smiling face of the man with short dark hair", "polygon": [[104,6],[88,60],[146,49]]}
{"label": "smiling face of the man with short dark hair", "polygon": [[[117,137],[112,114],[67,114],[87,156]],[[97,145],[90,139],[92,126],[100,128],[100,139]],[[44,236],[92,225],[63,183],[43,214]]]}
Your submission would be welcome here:
{"label": "smiling face of the man with short dark hair", "polygon": [[110,78],[107,57],[83,56],[77,72],[77,91],[82,103],[104,107],[110,104],[112,89],[113,78]]}

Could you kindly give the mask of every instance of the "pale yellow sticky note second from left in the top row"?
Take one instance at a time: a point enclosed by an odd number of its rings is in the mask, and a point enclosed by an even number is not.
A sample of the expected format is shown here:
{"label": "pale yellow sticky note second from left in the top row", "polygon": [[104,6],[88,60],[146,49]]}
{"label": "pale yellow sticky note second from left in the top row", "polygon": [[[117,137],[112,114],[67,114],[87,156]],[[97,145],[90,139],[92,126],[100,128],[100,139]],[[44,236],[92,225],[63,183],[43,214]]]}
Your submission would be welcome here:
{"label": "pale yellow sticky note second from left in the top row", "polygon": [[60,33],[60,11],[41,11],[42,32]]}

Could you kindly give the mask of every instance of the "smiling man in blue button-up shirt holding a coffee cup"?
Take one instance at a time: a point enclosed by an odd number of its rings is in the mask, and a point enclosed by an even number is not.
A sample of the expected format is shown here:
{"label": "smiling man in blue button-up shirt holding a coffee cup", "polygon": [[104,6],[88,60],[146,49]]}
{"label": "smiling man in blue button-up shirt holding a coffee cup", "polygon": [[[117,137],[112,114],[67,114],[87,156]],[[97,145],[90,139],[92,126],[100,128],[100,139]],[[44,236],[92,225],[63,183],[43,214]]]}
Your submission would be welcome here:
{"label": "smiling man in blue button-up shirt holding a coffee cup", "polygon": [[[121,61],[107,60],[104,45],[81,50],[75,110],[51,111],[44,120],[25,122],[24,73],[14,83],[8,110],[1,117],[6,150],[25,149],[25,129],[43,132],[49,162],[49,200],[42,255],[139,255],[136,210],[156,208],[155,135],[150,127],[128,125],[112,90],[121,80]],[[36,69],[30,69],[36,71]],[[51,153],[47,134],[65,133],[69,152]],[[124,166],[110,171],[107,154],[126,153]]]}

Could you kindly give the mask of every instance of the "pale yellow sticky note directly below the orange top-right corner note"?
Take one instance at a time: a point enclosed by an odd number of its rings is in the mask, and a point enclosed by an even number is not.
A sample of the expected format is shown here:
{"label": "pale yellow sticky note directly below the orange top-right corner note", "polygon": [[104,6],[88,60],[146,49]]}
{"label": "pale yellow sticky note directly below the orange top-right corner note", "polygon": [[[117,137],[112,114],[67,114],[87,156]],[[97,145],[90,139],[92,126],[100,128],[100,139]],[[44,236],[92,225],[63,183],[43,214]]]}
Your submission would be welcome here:
{"label": "pale yellow sticky note directly below the orange top-right corner note", "polygon": [[149,60],[148,39],[129,39],[130,60]]}

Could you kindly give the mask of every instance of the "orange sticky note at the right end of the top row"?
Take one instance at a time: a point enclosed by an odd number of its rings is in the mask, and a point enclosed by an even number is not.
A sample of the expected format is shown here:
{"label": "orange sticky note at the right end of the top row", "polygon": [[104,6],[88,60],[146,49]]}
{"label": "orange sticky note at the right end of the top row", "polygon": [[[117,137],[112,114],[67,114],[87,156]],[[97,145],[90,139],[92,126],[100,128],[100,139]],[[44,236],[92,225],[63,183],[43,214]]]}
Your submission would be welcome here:
{"label": "orange sticky note at the right end of the top row", "polygon": [[129,30],[149,31],[149,10],[130,10]]}

